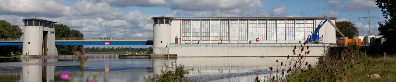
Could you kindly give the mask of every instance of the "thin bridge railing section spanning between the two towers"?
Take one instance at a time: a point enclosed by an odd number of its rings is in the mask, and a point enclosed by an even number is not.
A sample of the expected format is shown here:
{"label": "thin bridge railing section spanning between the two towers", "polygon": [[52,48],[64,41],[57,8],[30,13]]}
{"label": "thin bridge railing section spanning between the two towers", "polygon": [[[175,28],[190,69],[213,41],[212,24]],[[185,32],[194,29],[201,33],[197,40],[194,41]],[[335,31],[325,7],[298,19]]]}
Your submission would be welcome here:
{"label": "thin bridge railing section spanning between the two towers", "polygon": [[[109,39],[105,39],[102,37],[102,39],[100,39],[99,37],[97,38],[55,38],[55,40],[109,40]],[[154,38],[112,38],[111,40],[154,40]]]}

